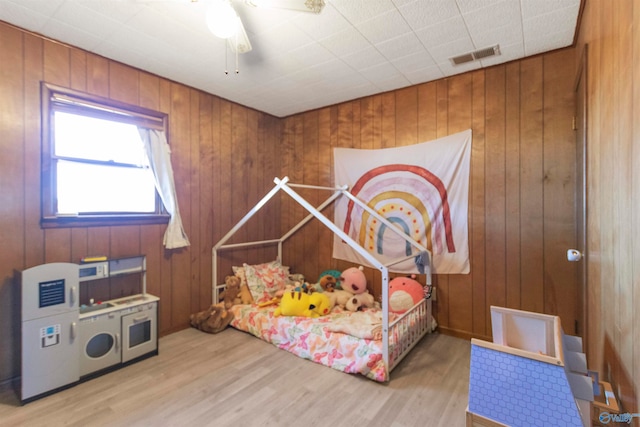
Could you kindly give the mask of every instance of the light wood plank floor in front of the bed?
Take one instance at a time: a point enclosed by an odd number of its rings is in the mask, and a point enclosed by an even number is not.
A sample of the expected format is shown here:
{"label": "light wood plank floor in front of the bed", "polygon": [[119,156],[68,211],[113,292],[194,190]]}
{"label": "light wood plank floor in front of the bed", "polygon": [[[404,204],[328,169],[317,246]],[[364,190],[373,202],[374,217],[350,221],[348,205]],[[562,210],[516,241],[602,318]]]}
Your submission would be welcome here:
{"label": "light wood plank floor in front of the bed", "polygon": [[427,335],[380,384],[299,359],[228,328],[187,329],[160,354],[20,406],[3,426],[464,426],[469,341]]}

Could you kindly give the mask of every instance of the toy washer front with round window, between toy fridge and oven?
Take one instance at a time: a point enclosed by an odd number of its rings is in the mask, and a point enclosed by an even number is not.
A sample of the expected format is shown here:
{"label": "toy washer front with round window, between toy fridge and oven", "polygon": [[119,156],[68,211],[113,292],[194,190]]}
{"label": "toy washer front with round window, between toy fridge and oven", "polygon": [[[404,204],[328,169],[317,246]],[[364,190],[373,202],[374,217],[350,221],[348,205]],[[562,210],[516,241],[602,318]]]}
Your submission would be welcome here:
{"label": "toy washer front with round window, between toy fridge and oven", "polygon": [[121,362],[120,315],[118,312],[80,319],[82,346],[80,376],[96,373]]}

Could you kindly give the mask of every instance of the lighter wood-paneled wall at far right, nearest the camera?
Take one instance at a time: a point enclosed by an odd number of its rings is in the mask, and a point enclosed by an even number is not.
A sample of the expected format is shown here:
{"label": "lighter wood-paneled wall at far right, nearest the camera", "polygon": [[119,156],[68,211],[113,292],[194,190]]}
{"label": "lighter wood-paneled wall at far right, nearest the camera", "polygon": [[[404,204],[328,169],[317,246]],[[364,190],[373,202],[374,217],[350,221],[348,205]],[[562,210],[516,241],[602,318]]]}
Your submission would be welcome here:
{"label": "lighter wood-paneled wall at far right, nearest the camera", "polygon": [[[588,46],[587,46],[588,45]],[[588,0],[588,363],[640,411],[640,4]]]}

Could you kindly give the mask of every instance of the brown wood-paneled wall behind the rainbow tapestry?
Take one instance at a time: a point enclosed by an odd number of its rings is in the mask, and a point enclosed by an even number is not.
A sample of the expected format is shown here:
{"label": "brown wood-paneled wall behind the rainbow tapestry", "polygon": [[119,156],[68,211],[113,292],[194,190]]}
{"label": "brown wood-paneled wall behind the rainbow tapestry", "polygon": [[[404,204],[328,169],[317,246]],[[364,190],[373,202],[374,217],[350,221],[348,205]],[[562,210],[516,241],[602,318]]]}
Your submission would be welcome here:
{"label": "brown wood-paneled wall behind the rainbow tapestry", "polygon": [[[438,323],[451,334],[487,337],[489,307],[501,305],[558,314],[572,332],[579,319],[576,269],[566,261],[575,245],[574,74],[574,50],[566,49],[285,118],[282,174],[333,185],[334,147],[404,146],[471,128],[471,273],[435,277]],[[300,215],[283,203],[285,228]],[[315,279],[349,266],[331,259],[330,231],[309,236],[285,248],[294,270]],[[379,277],[367,277],[379,293]]]}

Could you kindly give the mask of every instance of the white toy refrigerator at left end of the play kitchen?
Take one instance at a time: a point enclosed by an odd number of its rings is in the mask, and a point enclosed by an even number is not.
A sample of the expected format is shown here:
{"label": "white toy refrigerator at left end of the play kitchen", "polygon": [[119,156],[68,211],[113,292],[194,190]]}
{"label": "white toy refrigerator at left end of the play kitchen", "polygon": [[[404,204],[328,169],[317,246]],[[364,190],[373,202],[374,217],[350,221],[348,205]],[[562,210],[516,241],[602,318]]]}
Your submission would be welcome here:
{"label": "white toy refrigerator at left end of the play kitchen", "polygon": [[22,272],[23,403],[79,380],[78,276],[71,263]]}

